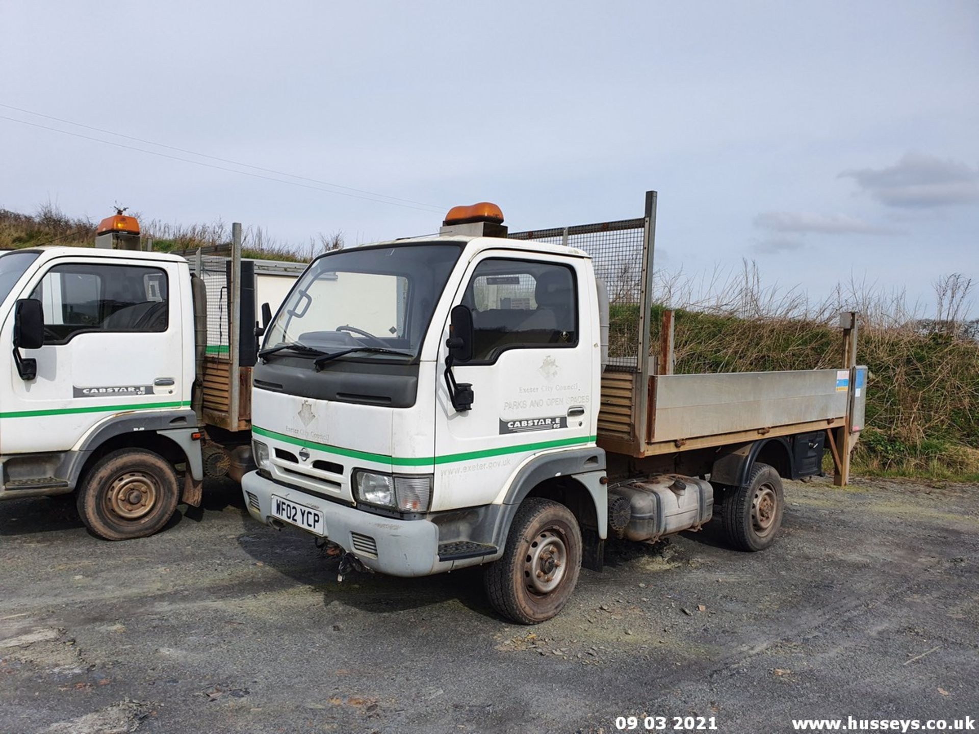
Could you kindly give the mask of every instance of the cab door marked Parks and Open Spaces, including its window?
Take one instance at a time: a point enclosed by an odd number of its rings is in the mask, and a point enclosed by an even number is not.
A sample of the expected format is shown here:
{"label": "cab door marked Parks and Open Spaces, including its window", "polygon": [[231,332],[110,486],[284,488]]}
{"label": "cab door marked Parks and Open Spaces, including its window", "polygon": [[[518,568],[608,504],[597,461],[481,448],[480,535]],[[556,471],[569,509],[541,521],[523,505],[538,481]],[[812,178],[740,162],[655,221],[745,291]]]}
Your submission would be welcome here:
{"label": "cab door marked Parks and Open Spaces, including its window", "polygon": [[[453,375],[472,385],[474,402],[453,409],[441,364],[433,509],[492,502],[527,458],[594,442],[600,355],[588,272],[580,258],[509,250],[470,263],[453,305],[472,310],[473,357]],[[444,361],[444,345],[440,354]]]}

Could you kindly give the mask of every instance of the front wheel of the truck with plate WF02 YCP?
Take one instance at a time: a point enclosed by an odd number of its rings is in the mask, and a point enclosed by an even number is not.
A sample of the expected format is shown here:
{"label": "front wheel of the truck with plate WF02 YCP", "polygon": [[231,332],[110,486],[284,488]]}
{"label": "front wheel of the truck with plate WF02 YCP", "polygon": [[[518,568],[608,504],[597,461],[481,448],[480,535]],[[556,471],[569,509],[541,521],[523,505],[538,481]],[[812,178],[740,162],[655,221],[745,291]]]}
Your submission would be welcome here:
{"label": "front wheel of the truck with plate WF02 YCP", "polygon": [[582,570],[582,530],[571,510],[540,497],[521,504],[503,557],[484,575],[487,596],[501,616],[536,624],[557,615]]}

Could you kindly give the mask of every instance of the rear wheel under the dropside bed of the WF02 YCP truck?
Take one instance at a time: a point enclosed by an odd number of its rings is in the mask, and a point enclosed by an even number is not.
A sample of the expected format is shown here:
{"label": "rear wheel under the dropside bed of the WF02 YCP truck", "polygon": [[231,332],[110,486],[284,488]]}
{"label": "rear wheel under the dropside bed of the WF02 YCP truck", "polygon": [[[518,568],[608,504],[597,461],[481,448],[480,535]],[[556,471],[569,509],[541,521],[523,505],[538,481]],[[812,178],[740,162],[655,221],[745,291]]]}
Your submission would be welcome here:
{"label": "rear wheel under the dropside bed of the WF02 YCP truck", "polygon": [[782,527],[785,506],[782,480],[768,464],[755,464],[748,486],[729,486],[723,496],[723,528],[737,550],[760,551]]}

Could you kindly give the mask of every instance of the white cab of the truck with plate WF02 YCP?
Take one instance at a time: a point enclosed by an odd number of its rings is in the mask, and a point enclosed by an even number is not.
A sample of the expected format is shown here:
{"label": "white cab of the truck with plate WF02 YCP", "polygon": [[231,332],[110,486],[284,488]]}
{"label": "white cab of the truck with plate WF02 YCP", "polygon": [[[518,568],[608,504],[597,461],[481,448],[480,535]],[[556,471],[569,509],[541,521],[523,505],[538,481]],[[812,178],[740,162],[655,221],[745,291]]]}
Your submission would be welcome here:
{"label": "white cab of the truck with plate WF02 YCP", "polygon": [[[367,569],[428,575],[500,559],[546,480],[580,495],[578,524],[604,534],[598,296],[584,252],[447,231],[328,253],[259,357],[258,470],[243,480],[256,519],[329,538]],[[550,528],[541,544],[536,565],[557,564],[544,586],[578,573],[569,514],[567,534]]]}

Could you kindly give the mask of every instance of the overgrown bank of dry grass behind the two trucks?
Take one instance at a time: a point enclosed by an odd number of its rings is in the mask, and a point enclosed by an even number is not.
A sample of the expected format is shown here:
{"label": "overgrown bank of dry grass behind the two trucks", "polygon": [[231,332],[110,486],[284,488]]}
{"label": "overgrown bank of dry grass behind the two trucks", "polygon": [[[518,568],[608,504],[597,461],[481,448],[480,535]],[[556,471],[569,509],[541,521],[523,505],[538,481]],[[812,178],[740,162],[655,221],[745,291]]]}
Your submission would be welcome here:
{"label": "overgrown bank of dry grass behind the two trucks", "polygon": [[[90,247],[95,226],[53,205],[33,214],[0,209],[0,249]],[[149,220],[143,233],[163,252],[231,239],[230,226],[221,221],[182,226]],[[244,232],[248,257],[303,262],[338,247],[339,232],[303,243],[278,240],[262,228]],[[796,289],[763,286],[753,263],[706,279],[658,272],[654,292],[663,303],[653,314],[651,344],[655,353],[669,304],[676,311],[677,372],[832,368],[841,362],[836,314],[860,311],[859,361],[869,367],[869,384],[855,471],[979,482],[979,321],[966,318],[971,286],[959,275],[936,283],[932,318],[924,318],[924,309],[909,307],[903,293],[863,283],[841,284],[814,303]],[[637,317],[637,306],[612,304],[613,353],[635,353]]]}

